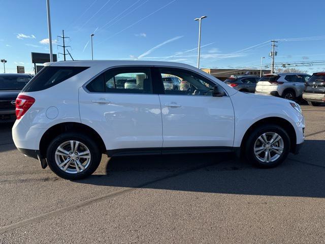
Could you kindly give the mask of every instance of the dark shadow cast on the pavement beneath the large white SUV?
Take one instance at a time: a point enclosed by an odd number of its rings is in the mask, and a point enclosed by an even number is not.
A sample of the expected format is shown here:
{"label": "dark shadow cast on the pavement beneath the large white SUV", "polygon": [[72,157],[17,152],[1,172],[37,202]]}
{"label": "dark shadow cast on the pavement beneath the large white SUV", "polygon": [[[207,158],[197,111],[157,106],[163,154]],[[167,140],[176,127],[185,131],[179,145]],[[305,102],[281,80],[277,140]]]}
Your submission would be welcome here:
{"label": "dark shadow cast on the pavement beneath the large white SUV", "polygon": [[300,155],[258,169],[230,154],[111,158],[106,174],[80,184],[186,192],[325,197],[325,141],[306,140]]}

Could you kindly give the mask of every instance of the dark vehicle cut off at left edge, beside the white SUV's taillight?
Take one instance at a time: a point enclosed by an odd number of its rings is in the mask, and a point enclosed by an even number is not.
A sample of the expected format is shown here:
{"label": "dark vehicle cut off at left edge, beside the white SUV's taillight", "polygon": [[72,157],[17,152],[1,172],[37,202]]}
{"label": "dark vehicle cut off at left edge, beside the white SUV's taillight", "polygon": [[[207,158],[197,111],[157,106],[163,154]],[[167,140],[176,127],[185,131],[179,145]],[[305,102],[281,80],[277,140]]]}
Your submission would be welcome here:
{"label": "dark vehicle cut off at left edge, beside the white SUV's taillight", "polygon": [[28,74],[0,74],[0,122],[16,119],[16,98],[31,78]]}

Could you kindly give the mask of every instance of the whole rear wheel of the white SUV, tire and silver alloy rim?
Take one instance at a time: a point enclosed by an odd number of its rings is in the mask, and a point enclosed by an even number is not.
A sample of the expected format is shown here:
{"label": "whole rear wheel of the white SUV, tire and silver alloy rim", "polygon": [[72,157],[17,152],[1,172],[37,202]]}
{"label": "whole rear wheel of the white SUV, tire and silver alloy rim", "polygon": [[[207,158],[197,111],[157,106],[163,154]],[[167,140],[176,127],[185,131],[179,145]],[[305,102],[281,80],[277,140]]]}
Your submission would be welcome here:
{"label": "whole rear wheel of the white SUV, tire and silver alloy rim", "polygon": [[101,162],[101,151],[92,138],[64,133],[54,138],[47,149],[50,169],[64,179],[81,179],[92,174]]}

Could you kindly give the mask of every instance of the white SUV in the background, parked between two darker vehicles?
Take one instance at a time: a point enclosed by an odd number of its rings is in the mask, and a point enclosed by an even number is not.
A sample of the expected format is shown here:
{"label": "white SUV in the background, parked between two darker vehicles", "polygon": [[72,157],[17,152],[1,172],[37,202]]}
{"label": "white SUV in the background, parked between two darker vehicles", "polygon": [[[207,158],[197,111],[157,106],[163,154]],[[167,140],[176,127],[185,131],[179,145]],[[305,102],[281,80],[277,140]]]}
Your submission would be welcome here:
{"label": "white SUV in the background, parked between two darker vehicles", "polygon": [[257,82],[255,93],[296,100],[302,98],[309,78],[310,75],[300,73],[266,74]]}

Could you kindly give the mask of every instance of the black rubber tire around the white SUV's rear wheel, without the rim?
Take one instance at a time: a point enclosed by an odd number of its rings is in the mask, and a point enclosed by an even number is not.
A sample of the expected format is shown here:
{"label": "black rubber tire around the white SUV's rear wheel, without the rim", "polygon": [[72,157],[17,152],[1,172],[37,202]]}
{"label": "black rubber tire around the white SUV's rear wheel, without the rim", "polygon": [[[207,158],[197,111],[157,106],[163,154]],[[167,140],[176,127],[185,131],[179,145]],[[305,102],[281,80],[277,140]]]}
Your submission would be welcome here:
{"label": "black rubber tire around the white SUV's rear wheel, without the rim", "polygon": [[[55,151],[58,148],[58,146],[61,145],[63,142],[70,141],[70,140],[76,140],[83,143],[85,146],[88,147],[90,151],[90,155],[91,155],[90,162],[88,166],[79,173],[67,173],[62,169],[60,169],[55,161]],[[50,142],[46,152],[46,159],[47,159],[48,166],[57,176],[64,179],[76,180],[91,175],[98,168],[102,159],[102,153],[98,145],[96,145],[96,143],[92,138],[86,135],[72,132],[72,133],[63,133],[57,136],[56,138],[54,138]]]}

